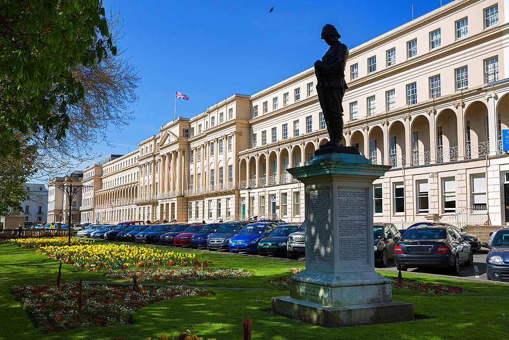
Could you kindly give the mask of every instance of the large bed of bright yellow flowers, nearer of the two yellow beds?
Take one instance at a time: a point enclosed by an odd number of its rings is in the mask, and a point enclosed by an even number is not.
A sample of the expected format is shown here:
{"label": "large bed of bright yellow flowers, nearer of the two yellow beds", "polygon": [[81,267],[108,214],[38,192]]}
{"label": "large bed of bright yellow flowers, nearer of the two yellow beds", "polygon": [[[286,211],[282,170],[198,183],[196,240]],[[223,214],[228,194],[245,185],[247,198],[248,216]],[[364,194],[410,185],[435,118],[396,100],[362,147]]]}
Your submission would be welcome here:
{"label": "large bed of bright yellow flowers, nearer of the two yellow beds", "polygon": [[39,248],[37,252],[87,271],[144,266],[197,266],[200,264],[195,255],[191,253],[161,251],[126,244],[47,246]]}

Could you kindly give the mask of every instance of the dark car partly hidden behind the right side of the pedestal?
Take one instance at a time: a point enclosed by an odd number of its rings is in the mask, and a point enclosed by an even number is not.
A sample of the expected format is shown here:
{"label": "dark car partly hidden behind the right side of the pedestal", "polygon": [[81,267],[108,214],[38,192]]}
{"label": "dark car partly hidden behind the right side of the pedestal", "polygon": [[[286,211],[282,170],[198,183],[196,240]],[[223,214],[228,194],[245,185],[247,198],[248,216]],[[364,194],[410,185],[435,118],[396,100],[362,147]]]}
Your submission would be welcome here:
{"label": "dark car partly hidden behind the right side of the pedestal", "polygon": [[373,225],[375,239],[375,264],[385,267],[390,258],[394,257],[394,248],[401,240],[401,233],[391,223],[377,223]]}

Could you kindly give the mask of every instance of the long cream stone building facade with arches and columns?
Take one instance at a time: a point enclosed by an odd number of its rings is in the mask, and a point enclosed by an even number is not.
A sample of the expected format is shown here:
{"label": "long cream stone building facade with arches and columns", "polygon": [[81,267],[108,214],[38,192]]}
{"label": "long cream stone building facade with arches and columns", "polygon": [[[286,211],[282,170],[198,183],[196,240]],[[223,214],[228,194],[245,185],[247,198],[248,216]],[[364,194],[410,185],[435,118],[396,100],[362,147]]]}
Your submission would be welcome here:
{"label": "long cream stone building facade with arches and columns", "polygon": [[[350,48],[344,143],[391,167],[375,181],[375,221],[509,221],[508,12],[507,0],[456,0]],[[303,221],[286,169],[327,141],[315,87],[309,68],[161,126],[102,166],[94,216]]]}

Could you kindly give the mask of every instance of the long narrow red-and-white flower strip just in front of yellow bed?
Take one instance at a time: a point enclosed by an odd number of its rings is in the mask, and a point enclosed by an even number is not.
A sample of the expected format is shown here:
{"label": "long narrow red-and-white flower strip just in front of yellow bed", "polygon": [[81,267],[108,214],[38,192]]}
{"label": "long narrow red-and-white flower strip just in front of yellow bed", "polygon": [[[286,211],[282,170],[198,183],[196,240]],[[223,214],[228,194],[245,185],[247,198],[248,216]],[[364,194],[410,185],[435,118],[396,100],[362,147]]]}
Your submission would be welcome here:
{"label": "long narrow red-and-white flower strip just in front of yellow bed", "polygon": [[151,269],[144,271],[122,270],[106,274],[107,277],[131,281],[132,276],[136,275],[140,281],[165,281],[165,282],[184,282],[184,281],[206,281],[206,280],[225,280],[237,279],[251,276],[252,273],[243,269],[196,269],[196,268],[172,268],[172,269]]}

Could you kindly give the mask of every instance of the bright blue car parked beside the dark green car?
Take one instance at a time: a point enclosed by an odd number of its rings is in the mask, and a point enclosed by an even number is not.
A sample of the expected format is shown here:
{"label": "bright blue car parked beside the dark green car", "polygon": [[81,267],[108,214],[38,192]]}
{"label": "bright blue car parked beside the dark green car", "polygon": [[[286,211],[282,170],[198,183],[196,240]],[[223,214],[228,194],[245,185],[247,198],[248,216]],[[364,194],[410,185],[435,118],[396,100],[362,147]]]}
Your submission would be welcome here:
{"label": "bright blue car parked beside the dark green car", "polygon": [[238,253],[239,251],[258,252],[258,242],[269,236],[275,227],[277,227],[277,222],[248,224],[230,239],[228,248],[232,253]]}

